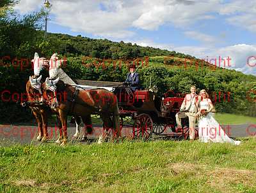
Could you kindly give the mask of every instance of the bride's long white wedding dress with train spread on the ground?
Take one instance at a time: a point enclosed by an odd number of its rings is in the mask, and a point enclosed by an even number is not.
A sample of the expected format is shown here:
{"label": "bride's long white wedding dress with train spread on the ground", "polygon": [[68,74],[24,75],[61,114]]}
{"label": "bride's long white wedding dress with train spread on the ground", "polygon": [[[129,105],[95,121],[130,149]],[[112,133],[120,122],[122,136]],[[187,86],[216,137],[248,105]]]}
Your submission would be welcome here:
{"label": "bride's long white wedding dress with train spread on the ground", "polygon": [[[200,109],[209,110],[209,104],[207,101],[200,102]],[[213,117],[213,113],[209,112],[205,116],[201,116],[198,120],[198,136],[199,141],[214,143],[232,143],[239,145],[241,141],[235,141],[230,139],[227,133],[220,127],[220,124],[216,122]]]}

